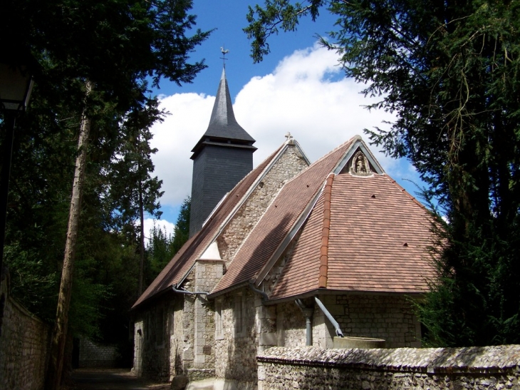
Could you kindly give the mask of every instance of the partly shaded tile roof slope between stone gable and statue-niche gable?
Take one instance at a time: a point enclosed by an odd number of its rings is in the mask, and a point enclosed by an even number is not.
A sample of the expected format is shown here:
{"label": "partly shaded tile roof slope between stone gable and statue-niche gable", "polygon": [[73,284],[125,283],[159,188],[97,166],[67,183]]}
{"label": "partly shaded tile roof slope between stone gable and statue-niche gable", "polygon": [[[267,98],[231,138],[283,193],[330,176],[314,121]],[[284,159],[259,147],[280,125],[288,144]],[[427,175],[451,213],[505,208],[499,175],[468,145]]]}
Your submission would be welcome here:
{"label": "partly shaded tile roof slope between stone gable and statue-niche gable", "polygon": [[[316,193],[321,191],[327,175],[336,168],[352,143],[353,140],[349,140],[340,145],[284,185],[251,230],[212,294],[256,277],[281,245],[309,202],[313,200]],[[321,234],[319,236],[321,237]]]}

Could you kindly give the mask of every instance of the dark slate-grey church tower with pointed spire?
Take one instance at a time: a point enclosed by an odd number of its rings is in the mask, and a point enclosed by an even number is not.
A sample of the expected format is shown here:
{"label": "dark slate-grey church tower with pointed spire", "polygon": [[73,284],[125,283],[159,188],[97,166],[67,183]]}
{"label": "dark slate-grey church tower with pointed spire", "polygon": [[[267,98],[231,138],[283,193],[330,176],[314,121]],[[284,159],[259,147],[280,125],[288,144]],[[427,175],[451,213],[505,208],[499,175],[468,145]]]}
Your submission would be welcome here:
{"label": "dark slate-grey church tower with pointed spire", "polygon": [[253,169],[254,142],[236,122],[223,69],[209,126],[192,149],[189,237],[201,229],[222,197]]}

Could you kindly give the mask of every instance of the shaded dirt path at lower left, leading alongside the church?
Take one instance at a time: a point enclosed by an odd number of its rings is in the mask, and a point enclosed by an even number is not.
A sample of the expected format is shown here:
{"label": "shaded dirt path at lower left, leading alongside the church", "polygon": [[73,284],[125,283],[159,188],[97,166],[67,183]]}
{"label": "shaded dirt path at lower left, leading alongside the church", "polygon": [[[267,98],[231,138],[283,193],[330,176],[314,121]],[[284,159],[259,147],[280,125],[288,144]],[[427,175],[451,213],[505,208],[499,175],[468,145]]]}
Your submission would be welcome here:
{"label": "shaded dirt path at lower left, leading alongside the church", "polygon": [[157,384],[136,378],[130,369],[76,369],[68,390],[166,390],[170,384]]}

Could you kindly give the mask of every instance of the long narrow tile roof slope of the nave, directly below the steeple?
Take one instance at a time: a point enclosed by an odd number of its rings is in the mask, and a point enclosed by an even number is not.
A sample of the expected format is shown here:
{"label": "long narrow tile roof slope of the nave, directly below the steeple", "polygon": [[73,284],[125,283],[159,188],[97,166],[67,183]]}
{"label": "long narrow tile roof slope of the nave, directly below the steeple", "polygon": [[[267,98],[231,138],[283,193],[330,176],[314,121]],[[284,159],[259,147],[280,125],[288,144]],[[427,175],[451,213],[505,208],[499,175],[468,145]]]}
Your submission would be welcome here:
{"label": "long narrow tile roof slope of the nave, directly below the steeple", "polygon": [[220,203],[217,210],[214,210],[212,216],[202,227],[202,229],[193,237],[191,237],[177,252],[168,265],[157,275],[155,280],[148,286],[145,292],[133,304],[132,309],[145,302],[166,289],[172,287],[173,284],[179,283],[194,265],[195,260],[199,258],[207,247],[212,243],[215,236],[219,232],[222,223],[234,210],[234,207],[241,202],[242,198],[248,192],[251,185],[254,184],[256,178],[269,166],[272,160],[283,150],[285,144],[282,144],[273,154],[271,154],[264,162],[258,165],[254,170],[246,175],[227,197]]}

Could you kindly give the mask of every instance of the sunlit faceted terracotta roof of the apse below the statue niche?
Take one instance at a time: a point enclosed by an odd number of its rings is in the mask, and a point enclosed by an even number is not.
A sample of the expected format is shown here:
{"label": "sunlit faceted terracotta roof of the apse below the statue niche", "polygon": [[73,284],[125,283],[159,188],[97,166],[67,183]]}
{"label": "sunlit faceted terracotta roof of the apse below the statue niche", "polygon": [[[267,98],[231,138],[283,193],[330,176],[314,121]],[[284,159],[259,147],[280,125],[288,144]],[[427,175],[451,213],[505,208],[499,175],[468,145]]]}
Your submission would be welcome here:
{"label": "sunlit faceted terracotta roof of the apse below the statue niche", "polygon": [[[318,288],[323,230],[321,195],[270,299]],[[435,276],[425,252],[430,217],[388,175],[336,175],[331,194],[326,289],[418,293]]]}

